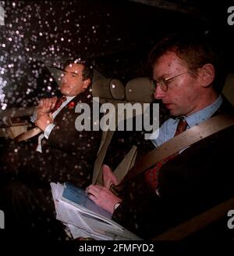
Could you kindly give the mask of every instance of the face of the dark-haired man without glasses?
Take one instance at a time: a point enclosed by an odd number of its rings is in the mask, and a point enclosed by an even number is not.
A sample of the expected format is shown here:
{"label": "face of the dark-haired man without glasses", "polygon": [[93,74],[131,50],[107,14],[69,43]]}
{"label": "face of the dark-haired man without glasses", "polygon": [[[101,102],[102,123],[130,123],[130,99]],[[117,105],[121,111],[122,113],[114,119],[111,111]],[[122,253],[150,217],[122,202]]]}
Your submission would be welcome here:
{"label": "face of the dark-haired man without glasses", "polygon": [[62,74],[60,90],[65,96],[76,96],[83,92],[90,84],[90,79],[83,81],[83,65],[78,63],[69,64]]}

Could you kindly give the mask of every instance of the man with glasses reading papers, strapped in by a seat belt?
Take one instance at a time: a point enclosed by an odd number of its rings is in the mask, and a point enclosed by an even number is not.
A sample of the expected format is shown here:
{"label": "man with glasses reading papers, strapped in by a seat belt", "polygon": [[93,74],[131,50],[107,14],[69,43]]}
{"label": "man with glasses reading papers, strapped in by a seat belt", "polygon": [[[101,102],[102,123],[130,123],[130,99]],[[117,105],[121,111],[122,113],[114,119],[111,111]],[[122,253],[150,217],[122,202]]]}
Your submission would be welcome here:
{"label": "man with glasses reading papers, strapped in by a seat belt", "polygon": [[[183,119],[184,128],[190,129],[221,113],[233,116],[233,106],[215,88],[217,58],[203,36],[164,38],[151,51],[150,61],[154,97],[172,116],[161,125],[158,139],[152,140],[154,146],[177,134],[179,120]],[[158,172],[153,172],[154,183],[150,184],[148,178],[152,169],[137,175],[126,182],[119,196],[109,190],[111,183],[119,181],[105,166],[104,186],[90,185],[87,193],[116,221],[150,238],[234,197],[233,145],[231,126],[161,162]],[[218,225],[228,233],[226,222]],[[216,230],[212,234],[219,233]]]}

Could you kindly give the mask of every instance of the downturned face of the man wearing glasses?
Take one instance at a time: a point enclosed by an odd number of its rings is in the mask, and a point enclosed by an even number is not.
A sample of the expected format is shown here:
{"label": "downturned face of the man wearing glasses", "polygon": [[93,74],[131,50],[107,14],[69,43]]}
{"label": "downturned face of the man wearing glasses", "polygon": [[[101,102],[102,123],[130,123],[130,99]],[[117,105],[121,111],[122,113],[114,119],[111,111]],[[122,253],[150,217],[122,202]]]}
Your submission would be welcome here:
{"label": "downturned face of the man wearing glasses", "polygon": [[176,56],[175,52],[166,52],[154,63],[154,81],[182,74],[168,82],[166,92],[161,90],[159,85],[154,92],[154,98],[161,99],[170,114],[175,117],[188,116],[200,110],[200,85],[198,79],[188,71],[186,64]]}

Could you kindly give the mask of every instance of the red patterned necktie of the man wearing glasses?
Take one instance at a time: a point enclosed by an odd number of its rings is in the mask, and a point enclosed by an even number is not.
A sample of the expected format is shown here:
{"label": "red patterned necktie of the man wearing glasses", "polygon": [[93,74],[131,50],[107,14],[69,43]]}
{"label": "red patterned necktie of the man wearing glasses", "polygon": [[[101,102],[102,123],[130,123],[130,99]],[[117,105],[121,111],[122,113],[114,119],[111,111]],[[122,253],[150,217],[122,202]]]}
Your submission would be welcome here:
{"label": "red patterned necktie of the man wearing glasses", "polygon": [[[187,124],[186,120],[184,120],[183,118],[180,118],[179,122],[177,124],[176,133],[175,133],[174,137],[176,135],[179,135],[179,133],[186,131],[187,125],[188,124]],[[168,160],[171,160],[174,157],[176,157],[178,155],[178,153],[179,152],[174,153],[169,157],[166,157],[165,159],[161,160],[161,162],[159,162],[158,164],[155,164],[153,168],[146,171],[145,182],[147,183],[147,186],[150,187],[150,189],[155,191],[155,189],[158,187],[158,173],[159,173],[162,165],[165,164]]]}

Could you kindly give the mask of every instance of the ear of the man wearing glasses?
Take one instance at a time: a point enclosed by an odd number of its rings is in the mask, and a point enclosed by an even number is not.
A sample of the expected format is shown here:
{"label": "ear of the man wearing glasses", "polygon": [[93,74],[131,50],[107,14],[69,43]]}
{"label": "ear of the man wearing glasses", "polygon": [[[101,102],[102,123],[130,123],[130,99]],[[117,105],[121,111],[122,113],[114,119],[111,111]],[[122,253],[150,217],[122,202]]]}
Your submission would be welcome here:
{"label": "ear of the man wearing glasses", "polygon": [[203,67],[200,67],[199,71],[200,85],[208,87],[215,79],[215,67],[207,63]]}

